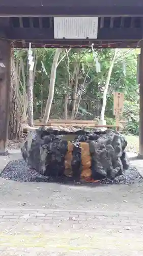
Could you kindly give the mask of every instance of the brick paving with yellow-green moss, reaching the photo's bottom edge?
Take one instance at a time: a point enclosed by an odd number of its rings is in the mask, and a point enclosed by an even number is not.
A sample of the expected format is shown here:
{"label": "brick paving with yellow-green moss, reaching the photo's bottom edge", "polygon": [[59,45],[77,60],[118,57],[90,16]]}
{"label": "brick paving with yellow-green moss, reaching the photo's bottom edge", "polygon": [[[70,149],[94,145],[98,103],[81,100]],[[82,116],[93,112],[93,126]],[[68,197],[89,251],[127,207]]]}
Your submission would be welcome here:
{"label": "brick paving with yellow-green moss, reaching the photo's bottom edge", "polygon": [[143,216],[132,212],[0,210],[0,255],[143,255]]}

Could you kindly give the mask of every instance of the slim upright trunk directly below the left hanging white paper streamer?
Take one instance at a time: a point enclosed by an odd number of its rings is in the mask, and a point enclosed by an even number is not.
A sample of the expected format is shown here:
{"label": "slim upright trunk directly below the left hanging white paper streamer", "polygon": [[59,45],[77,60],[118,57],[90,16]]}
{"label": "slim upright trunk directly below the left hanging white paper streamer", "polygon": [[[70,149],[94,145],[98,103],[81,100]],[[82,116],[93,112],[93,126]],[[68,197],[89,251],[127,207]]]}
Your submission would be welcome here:
{"label": "slim upright trunk directly below the left hanging white paper streamer", "polygon": [[34,126],[33,122],[33,70],[29,70],[28,76],[28,87],[27,87],[27,97],[28,97],[28,125]]}

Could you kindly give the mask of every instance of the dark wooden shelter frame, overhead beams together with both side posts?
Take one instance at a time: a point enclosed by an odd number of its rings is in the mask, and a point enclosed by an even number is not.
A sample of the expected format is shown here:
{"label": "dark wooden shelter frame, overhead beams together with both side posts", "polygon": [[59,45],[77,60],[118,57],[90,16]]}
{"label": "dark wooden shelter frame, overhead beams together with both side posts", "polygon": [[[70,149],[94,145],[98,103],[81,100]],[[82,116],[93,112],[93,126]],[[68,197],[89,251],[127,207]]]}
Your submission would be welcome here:
{"label": "dark wooden shelter frame, overhead beams together with both side posts", "polygon": [[[55,39],[55,16],[97,16],[96,39]],[[11,48],[141,48],[140,135],[143,157],[142,0],[0,0],[0,154],[7,153]]]}

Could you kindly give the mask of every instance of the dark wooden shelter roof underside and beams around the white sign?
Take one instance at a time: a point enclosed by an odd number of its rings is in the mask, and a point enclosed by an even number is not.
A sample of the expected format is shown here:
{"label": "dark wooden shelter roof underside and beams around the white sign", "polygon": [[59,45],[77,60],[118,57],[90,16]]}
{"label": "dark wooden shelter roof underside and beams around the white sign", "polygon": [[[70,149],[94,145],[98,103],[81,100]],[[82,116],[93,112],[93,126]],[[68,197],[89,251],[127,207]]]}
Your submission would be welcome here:
{"label": "dark wooden shelter roof underside and beams around the white sign", "polygon": [[[16,48],[136,48],[142,0],[0,0],[0,37]],[[54,16],[98,16],[97,39],[55,39]]]}

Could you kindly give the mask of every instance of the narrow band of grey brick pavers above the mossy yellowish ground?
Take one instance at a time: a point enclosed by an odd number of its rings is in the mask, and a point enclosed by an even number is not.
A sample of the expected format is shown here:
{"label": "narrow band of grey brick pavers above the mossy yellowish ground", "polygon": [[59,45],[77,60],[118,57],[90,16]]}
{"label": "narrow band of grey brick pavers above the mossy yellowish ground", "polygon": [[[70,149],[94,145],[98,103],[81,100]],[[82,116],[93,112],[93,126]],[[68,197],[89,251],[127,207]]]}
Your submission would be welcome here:
{"label": "narrow band of grey brick pavers above the mossy yellowish ground", "polygon": [[[143,211],[143,210],[142,210]],[[81,210],[41,210],[41,209],[0,209],[0,223],[54,223],[69,222],[70,224],[88,224],[124,228],[131,226],[143,231],[143,215],[132,212],[114,211],[81,211]]]}

